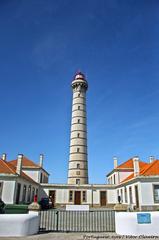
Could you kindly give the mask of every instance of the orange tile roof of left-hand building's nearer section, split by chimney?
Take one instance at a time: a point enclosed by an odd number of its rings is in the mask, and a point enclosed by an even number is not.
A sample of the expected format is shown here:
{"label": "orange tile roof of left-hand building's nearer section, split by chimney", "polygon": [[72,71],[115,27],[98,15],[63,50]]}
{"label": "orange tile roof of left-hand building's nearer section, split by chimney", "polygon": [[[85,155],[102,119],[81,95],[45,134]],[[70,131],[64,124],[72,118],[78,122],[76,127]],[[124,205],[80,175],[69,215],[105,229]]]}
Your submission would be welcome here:
{"label": "orange tile roof of left-hand building's nearer section, split by chimney", "polygon": [[[6,162],[2,159],[0,159],[0,174],[13,174],[17,175],[16,173],[16,166],[11,164],[10,162]],[[36,183],[32,178],[30,178],[27,174],[25,174],[23,171],[21,172],[20,177],[25,178],[26,180]],[[38,183],[36,183],[38,184]]]}

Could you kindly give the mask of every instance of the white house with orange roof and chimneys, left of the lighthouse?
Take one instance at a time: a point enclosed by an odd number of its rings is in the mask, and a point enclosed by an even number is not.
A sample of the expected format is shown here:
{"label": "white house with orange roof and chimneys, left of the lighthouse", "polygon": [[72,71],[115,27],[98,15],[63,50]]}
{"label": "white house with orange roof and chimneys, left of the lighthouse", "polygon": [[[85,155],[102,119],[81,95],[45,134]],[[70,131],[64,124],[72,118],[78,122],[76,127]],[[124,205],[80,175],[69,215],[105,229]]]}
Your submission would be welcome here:
{"label": "white house with orange roof and chimneys, left of the lighthouse", "polygon": [[38,166],[22,154],[10,162],[3,154],[0,159],[0,198],[7,204],[30,203],[35,195],[40,199],[40,182],[48,182],[48,176],[42,165]]}

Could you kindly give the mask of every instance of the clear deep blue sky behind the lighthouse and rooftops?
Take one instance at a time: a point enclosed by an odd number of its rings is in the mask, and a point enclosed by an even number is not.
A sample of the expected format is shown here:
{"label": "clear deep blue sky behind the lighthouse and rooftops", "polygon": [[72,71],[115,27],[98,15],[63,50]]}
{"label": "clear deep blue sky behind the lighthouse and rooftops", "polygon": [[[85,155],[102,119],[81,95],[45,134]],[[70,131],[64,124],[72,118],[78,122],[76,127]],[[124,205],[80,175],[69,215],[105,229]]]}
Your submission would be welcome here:
{"label": "clear deep blue sky behind the lighthouse and rooftops", "polygon": [[45,154],[65,183],[71,81],[87,77],[90,183],[139,155],[159,158],[159,1],[1,0],[0,154]]}

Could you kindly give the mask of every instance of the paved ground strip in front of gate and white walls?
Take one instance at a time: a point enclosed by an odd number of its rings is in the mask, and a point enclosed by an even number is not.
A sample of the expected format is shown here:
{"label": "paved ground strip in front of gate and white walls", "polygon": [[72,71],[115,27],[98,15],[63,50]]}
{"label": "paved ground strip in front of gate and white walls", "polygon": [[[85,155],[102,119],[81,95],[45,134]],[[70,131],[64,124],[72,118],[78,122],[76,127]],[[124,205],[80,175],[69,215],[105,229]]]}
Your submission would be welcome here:
{"label": "paved ground strip in front of gate and white walls", "polygon": [[114,239],[114,240],[119,240],[119,239],[130,239],[130,240],[141,240],[141,239],[146,239],[146,240],[152,240],[152,239],[158,239],[159,237],[134,237],[134,236],[119,236],[115,233],[45,233],[45,234],[38,234],[34,236],[29,236],[29,237],[0,237],[0,240],[103,240],[103,239]]}

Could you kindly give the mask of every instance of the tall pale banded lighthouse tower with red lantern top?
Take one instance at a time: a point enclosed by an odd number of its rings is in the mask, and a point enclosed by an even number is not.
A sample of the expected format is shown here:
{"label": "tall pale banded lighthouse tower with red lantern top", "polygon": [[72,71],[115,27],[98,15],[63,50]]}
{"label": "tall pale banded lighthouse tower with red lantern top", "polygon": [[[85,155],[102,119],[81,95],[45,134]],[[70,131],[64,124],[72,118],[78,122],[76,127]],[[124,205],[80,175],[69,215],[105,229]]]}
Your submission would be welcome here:
{"label": "tall pale banded lighthouse tower with red lantern top", "polygon": [[77,72],[72,81],[72,118],[68,184],[88,184],[87,111],[85,75]]}

